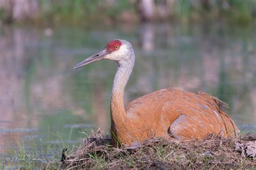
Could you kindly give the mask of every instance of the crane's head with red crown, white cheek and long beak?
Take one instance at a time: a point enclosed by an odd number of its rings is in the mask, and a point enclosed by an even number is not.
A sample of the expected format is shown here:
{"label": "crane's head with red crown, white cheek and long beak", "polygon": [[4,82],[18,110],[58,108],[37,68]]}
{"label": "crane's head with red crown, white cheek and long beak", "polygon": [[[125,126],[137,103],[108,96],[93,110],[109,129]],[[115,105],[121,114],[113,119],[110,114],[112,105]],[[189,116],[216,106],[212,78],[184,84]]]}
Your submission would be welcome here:
{"label": "crane's head with red crown, white cheek and long beak", "polygon": [[82,62],[77,63],[74,69],[78,69],[82,66],[102,59],[114,60],[117,63],[132,60],[134,63],[135,57],[131,43],[123,39],[111,40],[111,42],[109,42],[102,51],[99,51]]}

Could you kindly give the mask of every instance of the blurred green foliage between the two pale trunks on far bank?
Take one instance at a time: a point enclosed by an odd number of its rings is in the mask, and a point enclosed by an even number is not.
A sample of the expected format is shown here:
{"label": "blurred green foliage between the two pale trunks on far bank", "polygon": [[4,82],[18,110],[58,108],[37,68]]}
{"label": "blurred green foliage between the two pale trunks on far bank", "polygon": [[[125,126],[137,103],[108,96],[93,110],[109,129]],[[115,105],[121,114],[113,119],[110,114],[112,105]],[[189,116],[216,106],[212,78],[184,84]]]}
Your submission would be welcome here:
{"label": "blurred green foliage between the two pale trunks on far bank", "polygon": [[125,9],[131,9],[129,1],[63,0],[41,1],[39,22],[93,22],[102,19],[117,20]]}

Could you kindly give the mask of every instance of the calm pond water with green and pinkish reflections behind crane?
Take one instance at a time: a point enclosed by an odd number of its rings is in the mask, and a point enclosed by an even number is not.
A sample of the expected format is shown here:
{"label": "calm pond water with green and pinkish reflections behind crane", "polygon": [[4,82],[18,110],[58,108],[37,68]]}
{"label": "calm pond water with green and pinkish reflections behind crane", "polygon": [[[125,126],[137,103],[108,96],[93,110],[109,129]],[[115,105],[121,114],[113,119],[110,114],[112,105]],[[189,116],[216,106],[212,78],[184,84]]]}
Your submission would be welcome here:
{"label": "calm pond water with green and pinkish reflections behind crane", "polygon": [[[110,127],[116,64],[73,66],[114,38],[129,40],[137,59],[125,103],[171,87],[205,91],[230,105],[244,132],[256,131],[255,24],[140,24],[0,28],[0,151],[17,141],[57,143]],[[29,147],[29,146],[28,146]]]}

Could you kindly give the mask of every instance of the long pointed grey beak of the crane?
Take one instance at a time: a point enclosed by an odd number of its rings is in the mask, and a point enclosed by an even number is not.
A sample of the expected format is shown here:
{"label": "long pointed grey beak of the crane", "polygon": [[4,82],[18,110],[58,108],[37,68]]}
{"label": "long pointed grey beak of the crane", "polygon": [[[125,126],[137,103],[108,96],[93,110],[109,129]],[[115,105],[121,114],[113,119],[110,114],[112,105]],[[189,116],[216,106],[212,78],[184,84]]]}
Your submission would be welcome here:
{"label": "long pointed grey beak of the crane", "polygon": [[75,65],[74,69],[79,69],[82,66],[85,66],[87,64],[91,64],[93,62],[97,62],[98,60],[102,60],[104,59],[104,56],[107,55],[108,52],[106,49],[97,52],[95,55],[92,55],[91,57],[86,58],[85,60],[83,60],[82,62],[79,62]]}

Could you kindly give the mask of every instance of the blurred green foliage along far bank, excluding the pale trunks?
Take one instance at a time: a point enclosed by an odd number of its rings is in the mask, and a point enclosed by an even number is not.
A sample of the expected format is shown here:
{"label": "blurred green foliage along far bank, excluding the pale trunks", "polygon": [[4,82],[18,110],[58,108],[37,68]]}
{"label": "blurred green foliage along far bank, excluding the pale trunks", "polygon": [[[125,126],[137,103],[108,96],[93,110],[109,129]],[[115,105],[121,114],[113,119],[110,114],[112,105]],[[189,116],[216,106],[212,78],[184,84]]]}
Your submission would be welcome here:
{"label": "blurred green foliage along far bank, excluding the pale trunks", "polygon": [[[3,9],[0,4],[0,21],[10,22],[10,11]],[[136,22],[141,15],[138,9],[138,1],[131,0],[42,0],[38,1],[37,16],[31,16],[31,19],[38,24]],[[231,22],[246,24],[256,16],[256,1],[154,1],[155,16],[153,18],[156,20],[163,19],[159,11],[166,11],[164,18],[169,21],[227,19]]]}

